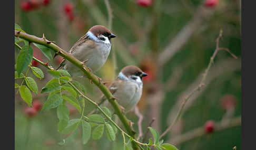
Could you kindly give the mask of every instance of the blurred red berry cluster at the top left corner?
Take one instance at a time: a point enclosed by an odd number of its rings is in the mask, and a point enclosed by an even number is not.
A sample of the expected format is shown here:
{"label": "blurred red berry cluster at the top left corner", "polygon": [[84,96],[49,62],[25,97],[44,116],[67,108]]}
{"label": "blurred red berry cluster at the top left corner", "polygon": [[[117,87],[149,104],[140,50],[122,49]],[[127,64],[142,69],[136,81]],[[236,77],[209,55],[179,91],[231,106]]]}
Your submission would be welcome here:
{"label": "blurred red berry cluster at the top left corner", "polygon": [[39,8],[42,5],[47,6],[50,3],[50,1],[51,0],[42,0],[42,1],[29,0],[29,1],[23,1],[21,3],[21,9],[24,12],[29,12],[31,10],[35,10],[35,9]]}

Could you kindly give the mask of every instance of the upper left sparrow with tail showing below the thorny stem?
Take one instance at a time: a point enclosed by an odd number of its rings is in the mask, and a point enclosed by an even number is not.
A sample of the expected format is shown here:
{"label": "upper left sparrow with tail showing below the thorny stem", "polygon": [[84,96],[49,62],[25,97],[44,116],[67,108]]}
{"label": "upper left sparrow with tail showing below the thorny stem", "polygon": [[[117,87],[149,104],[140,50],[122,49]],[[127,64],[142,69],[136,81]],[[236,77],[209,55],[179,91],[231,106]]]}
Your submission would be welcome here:
{"label": "upper left sparrow with tail showing below the thorny stem", "polygon": [[[84,62],[90,71],[98,71],[106,62],[111,50],[111,39],[116,36],[104,26],[96,25],[91,27],[73,47],[68,51],[76,59]],[[62,60],[60,67],[71,73],[72,76],[83,77],[83,72],[71,62]]]}

